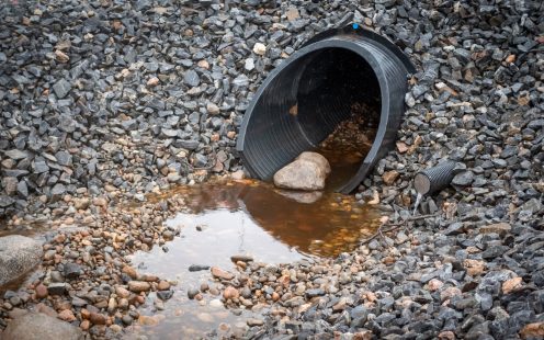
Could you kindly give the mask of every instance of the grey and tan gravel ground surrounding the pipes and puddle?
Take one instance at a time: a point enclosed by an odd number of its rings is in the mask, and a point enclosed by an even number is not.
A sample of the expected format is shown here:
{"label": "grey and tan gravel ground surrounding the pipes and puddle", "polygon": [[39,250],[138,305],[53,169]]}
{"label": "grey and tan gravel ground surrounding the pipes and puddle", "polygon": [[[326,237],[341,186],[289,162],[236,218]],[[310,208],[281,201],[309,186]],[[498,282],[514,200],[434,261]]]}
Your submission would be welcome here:
{"label": "grey and tan gravel ground surrounding the pipes and puddle", "polygon": [[[33,307],[112,338],[147,292],[167,299],[170,283],[124,257],[173,237],[162,220],[178,203],[118,202],[241,170],[251,93],[306,39],[355,21],[418,69],[396,150],[358,193],[399,228],[333,261],[240,263],[216,275],[225,303],[272,304],[248,337],[544,337],[542,2],[2,2],[2,228],[54,225],[25,256],[43,274],[4,294],[0,329]],[[432,217],[408,220],[415,173],[446,157],[466,170],[423,200]]]}

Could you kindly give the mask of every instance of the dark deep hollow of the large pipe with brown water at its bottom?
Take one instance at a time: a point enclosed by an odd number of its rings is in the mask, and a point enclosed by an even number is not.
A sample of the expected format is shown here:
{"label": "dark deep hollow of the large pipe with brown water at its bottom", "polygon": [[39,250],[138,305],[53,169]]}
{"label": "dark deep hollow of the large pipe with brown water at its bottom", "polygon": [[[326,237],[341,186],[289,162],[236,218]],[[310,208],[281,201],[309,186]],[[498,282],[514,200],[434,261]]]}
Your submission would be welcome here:
{"label": "dark deep hollow of the large pipe with brown water at its bottom", "polygon": [[338,190],[355,175],[376,136],[379,82],[350,49],[326,48],[310,58],[298,83],[297,120],[315,151],[329,160],[327,189]]}

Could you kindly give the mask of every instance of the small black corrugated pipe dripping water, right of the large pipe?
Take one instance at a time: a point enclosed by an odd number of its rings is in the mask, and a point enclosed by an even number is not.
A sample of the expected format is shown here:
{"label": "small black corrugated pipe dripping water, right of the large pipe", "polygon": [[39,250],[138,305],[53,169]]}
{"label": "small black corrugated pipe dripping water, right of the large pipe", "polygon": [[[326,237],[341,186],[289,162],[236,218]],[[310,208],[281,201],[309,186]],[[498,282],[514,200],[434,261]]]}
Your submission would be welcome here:
{"label": "small black corrugated pipe dripping water, right of the large pipe", "polygon": [[456,162],[444,161],[433,168],[426,169],[413,179],[413,188],[421,195],[433,194],[450,185],[455,177]]}

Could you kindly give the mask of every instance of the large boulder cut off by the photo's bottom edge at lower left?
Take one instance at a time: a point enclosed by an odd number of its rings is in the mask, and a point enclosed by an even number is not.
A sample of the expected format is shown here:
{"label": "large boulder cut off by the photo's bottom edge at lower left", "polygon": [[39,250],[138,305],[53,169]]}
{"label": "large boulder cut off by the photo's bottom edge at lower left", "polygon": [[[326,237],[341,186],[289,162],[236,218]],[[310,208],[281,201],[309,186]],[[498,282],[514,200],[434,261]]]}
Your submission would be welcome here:
{"label": "large boulder cut off by the photo's bottom edge at lower left", "polygon": [[27,313],[15,318],[0,333],[1,340],[80,340],[83,332],[78,327],[42,313]]}

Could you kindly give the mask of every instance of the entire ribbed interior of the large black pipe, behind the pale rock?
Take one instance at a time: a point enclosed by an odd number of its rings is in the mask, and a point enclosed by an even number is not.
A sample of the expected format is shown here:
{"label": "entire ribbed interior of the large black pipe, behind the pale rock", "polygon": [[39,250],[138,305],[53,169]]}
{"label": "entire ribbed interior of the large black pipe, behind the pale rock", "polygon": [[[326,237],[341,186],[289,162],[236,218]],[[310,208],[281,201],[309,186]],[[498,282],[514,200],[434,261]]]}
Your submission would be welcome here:
{"label": "entire ribbed interior of the large black pipe, behind the pale rock", "polygon": [[[262,160],[251,162],[251,170],[270,179],[302,151],[316,150],[329,159],[332,173],[327,186],[336,190],[359,169],[379,114],[379,83],[362,56],[338,47],[306,54],[276,75],[256,103],[246,152]],[[329,143],[328,136],[348,126],[365,134],[369,145],[342,134]]]}

